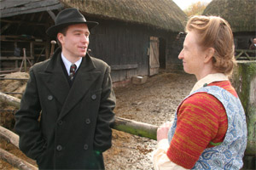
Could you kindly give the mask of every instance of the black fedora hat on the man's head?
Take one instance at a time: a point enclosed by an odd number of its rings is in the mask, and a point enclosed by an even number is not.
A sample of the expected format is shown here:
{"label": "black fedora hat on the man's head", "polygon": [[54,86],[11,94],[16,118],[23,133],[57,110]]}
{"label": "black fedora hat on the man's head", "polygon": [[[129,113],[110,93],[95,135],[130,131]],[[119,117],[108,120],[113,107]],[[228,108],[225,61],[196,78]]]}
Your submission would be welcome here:
{"label": "black fedora hat on the man's head", "polygon": [[46,33],[49,37],[56,37],[58,31],[61,31],[61,29],[81,23],[86,24],[89,30],[99,24],[94,21],[85,20],[84,15],[79,12],[78,8],[66,8],[57,14],[55,18],[55,26],[49,27]]}

